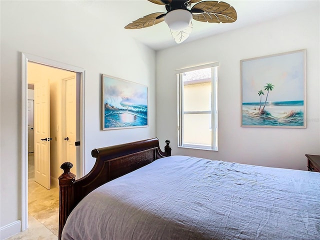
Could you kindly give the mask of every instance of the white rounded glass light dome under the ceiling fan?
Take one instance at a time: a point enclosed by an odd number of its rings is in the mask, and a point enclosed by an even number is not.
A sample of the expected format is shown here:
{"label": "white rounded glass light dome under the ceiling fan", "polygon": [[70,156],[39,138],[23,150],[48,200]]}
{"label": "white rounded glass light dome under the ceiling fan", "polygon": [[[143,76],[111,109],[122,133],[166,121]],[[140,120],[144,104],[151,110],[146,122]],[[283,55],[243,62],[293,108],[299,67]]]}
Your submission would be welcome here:
{"label": "white rounded glass light dome under the ceiling fan", "polygon": [[165,14],[164,21],[174,31],[186,28],[192,19],[192,13],[185,9],[175,9]]}

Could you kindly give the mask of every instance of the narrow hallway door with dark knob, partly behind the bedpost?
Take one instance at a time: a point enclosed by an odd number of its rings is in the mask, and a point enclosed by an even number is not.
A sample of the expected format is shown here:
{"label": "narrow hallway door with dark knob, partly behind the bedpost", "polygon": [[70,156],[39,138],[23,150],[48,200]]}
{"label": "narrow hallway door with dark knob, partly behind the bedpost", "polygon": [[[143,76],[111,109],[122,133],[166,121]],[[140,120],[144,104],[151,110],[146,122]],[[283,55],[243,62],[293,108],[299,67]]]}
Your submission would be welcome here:
{"label": "narrow hallway door with dark knob, partly behind the bedpost", "polygon": [[76,168],[76,79],[65,80],[65,161],[73,164],[71,172],[79,177]]}

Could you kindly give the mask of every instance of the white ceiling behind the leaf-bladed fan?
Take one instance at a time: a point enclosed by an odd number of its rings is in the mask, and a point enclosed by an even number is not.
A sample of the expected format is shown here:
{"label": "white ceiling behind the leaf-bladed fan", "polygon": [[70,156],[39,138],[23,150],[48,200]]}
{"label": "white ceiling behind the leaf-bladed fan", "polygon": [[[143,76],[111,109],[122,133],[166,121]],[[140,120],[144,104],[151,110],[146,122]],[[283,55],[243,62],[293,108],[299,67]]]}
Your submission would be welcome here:
{"label": "white ceiling behind the leaf-bladed fan", "polygon": [[[193,29],[184,42],[193,41],[202,37],[218,34],[286,14],[296,13],[307,8],[319,8],[319,0],[223,0],[233,6],[237,12],[237,20],[232,23],[208,23],[192,20]],[[164,5],[158,5],[148,0],[106,0],[106,1],[77,1],[87,11],[100,14],[100,19],[107,22],[109,27],[116,31],[126,31],[125,34],[135,38],[145,45],[155,49],[174,46],[177,43],[172,39],[166,23],[141,29],[124,29],[124,26],[139,17],[153,12],[166,12]],[[192,6],[194,3],[192,4]],[[110,25],[111,23],[111,25]],[[311,23],[310,23],[311,24]]]}

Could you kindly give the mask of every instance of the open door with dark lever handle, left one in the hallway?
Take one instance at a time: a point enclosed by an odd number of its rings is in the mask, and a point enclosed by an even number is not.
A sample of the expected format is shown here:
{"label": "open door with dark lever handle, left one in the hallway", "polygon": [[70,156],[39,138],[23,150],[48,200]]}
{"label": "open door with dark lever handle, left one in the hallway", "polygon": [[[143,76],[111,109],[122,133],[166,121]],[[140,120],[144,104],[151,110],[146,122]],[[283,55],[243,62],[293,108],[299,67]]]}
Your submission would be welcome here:
{"label": "open door with dark lever handle, left one in the hallway", "polygon": [[34,181],[50,189],[50,95],[48,80],[34,83]]}

